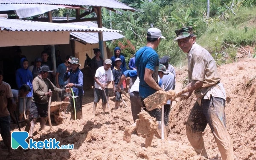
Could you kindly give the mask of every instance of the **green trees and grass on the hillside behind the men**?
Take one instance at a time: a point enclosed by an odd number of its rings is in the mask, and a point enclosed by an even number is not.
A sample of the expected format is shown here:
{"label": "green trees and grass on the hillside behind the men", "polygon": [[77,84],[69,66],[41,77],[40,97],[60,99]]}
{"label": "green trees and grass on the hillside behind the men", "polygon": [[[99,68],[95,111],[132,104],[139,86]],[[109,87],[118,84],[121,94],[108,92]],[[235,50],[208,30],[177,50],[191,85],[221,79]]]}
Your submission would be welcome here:
{"label": "green trees and grass on the hillside behind the men", "polygon": [[103,26],[123,31],[127,39],[108,43],[108,47],[113,50],[116,45],[127,45],[129,40],[130,47],[123,51],[127,59],[145,45],[146,30],[151,26],[161,29],[166,37],[157,48],[158,54],[169,55],[176,67],[186,61],[186,54],[173,41],[175,29],[183,26],[193,26],[197,43],[207,48],[218,64],[236,61],[238,48],[256,44],[256,0],[210,0],[209,18],[205,0],[120,1],[140,12],[119,10],[122,15],[112,12],[110,16],[107,9],[102,9]]}

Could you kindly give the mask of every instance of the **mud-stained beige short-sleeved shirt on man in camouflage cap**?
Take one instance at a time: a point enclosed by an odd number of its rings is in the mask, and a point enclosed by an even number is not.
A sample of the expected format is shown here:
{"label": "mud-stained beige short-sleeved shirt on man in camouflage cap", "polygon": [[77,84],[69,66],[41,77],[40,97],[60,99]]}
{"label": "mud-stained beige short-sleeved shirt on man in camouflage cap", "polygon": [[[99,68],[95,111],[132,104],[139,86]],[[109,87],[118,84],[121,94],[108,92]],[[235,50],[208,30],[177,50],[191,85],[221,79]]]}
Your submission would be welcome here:
{"label": "mud-stained beige short-sleeved shirt on man in camouflage cap", "polygon": [[195,43],[190,49],[187,58],[189,82],[192,80],[203,81],[203,87],[195,90],[195,93],[199,93],[196,94],[197,98],[204,96],[204,99],[210,99],[210,96],[213,96],[226,100],[224,86],[219,83],[221,79],[212,55]]}

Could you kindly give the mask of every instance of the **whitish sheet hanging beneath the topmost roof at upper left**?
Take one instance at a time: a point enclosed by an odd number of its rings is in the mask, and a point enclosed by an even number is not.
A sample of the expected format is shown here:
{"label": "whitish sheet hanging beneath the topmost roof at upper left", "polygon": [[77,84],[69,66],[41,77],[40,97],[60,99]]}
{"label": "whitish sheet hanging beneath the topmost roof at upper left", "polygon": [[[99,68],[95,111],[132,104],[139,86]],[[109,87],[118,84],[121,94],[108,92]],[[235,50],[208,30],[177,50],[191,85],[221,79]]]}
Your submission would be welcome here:
{"label": "whitish sheet hanging beneath the topmost roof at upper left", "polygon": [[0,11],[14,10],[20,18],[40,15],[54,9],[62,9],[65,6],[48,4],[0,4]]}

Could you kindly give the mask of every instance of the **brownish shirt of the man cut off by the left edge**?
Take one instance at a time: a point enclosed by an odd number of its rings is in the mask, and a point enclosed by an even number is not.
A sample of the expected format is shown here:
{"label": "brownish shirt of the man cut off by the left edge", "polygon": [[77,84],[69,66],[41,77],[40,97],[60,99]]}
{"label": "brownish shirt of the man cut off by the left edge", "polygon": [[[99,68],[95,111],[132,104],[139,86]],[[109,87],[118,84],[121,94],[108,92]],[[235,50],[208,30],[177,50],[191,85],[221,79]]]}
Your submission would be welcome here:
{"label": "brownish shirt of the man cut off by the left edge", "polygon": [[10,115],[7,109],[7,102],[8,99],[12,97],[13,95],[11,86],[8,83],[2,81],[2,84],[0,85],[0,117]]}

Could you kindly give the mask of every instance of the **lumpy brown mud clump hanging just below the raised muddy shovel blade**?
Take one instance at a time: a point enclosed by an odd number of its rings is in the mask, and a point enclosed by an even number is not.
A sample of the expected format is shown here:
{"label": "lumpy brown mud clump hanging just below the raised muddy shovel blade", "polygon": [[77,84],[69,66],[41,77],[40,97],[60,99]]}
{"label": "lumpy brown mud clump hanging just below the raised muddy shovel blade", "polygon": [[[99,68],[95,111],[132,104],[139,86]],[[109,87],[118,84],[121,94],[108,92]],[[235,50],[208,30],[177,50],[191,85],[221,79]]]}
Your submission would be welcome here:
{"label": "lumpy brown mud clump hanging just below the raised muddy shovel blade", "polygon": [[145,148],[151,145],[154,133],[157,131],[157,121],[148,112],[138,114],[139,119],[133,125],[125,127],[124,138],[126,142],[131,141],[131,134],[136,129],[139,136],[145,138]]}

